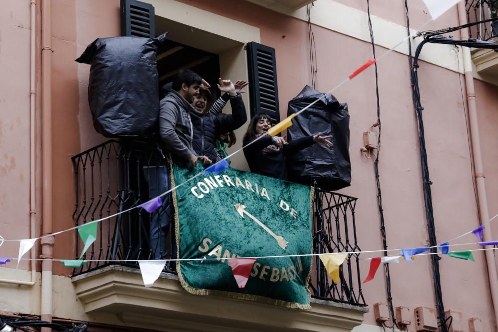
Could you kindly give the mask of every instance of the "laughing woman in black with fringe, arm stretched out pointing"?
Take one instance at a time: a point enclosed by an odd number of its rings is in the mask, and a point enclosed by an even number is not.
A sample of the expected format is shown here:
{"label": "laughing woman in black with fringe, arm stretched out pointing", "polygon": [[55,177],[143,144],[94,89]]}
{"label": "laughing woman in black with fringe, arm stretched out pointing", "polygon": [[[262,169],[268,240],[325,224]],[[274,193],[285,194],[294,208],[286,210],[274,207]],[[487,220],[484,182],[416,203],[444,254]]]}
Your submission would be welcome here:
{"label": "laughing woman in black with fringe, arm stretched out pointing", "polygon": [[[271,118],[267,114],[256,114],[249,122],[249,127],[244,135],[243,145],[246,146],[254,139],[265,134],[271,128]],[[285,137],[285,136],[284,136]],[[287,167],[285,156],[302,150],[315,143],[332,147],[329,140],[332,136],[313,135],[297,138],[287,143],[280,136],[265,136],[244,148],[244,155],[252,173],[257,173],[280,180],[287,180]]]}

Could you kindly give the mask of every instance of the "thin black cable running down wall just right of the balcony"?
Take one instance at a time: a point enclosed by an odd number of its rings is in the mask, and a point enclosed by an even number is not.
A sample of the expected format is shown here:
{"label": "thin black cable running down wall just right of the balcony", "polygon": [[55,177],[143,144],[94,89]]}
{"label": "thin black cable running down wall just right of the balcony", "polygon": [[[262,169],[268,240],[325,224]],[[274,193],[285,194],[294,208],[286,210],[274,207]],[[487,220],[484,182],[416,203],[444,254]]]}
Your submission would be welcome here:
{"label": "thin black cable running down wall just right of the balcony", "polygon": [[[375,43],[373,40],[373,27],[372,27],[372,19],[370,17],[370,0],[367,0],[367,14],[369,17],[369,31],[370,31],[370,41],[372,43],[372,53],[373,59],[375,59]],[[380,176],[378,172],[378,157],[380,154],[380,133],[381,133],[381,124],[380,124],[380,98],[378,93],[378,71],[377,71],[377,63],[374,63],[375,68],[375,95],[377,98],[377,126],[378,126],[378,136],[377,136],[377,153],[375,156],[375,161],[373,162],[373,170],[375,172],[375,184],[377,187],[377,207],[378,214],[380,219],[380,235],[382,236],[382,248],[384,249],[384,256],[387,256],[387,238],[385,234],[385,221],[384,221],[384,209],[382,208],[382,191],[380,189]],[[385,289],[387,295],[387,307],[389,309],[389,313],[392,320],[391,326],[386,326],[383,323],[382,328],[386,327],[389,329],[393,329],[394,327],[398,328],[396,318],[394,316],[394,307],[392,305],[392,295],[391,295],[391,277],[389,274],[389,263],[383,264],[384,266],[384,274],[385,274]]]}

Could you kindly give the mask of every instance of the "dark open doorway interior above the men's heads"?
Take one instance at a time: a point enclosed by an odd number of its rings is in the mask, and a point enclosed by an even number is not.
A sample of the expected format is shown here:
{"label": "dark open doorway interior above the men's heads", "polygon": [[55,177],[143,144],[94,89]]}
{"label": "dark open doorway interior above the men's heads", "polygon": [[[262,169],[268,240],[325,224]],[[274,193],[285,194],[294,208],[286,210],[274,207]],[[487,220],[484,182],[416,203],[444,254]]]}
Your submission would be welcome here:
{"label": "dark open doorway interior above the men's heads", "polygon": [[220,77],[220,57],[218,54],[167,40],[157,52],[159,86],[173,81],[180,69],[190,69],[201,75],[211,84],[213,100],[218,98],[216,84]]}

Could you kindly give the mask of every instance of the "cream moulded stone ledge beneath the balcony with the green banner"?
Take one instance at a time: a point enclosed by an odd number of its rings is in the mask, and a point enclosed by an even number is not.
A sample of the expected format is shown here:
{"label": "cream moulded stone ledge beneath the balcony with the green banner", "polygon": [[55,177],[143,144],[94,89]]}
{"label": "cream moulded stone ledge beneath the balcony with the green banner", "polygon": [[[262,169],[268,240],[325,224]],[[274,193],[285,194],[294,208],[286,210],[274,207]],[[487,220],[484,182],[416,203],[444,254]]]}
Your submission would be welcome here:
{"label": "cream moulded stone ledge beneath the balcony with the green banner", "polygon": [[159,331],[345,332],[362,324],[367,307],[311,299],[294,310],[187,293],[174,274],[162,273],[151,288],[138,269],[103,267],[72,278],[85,312],[116,315],[126,326]]}

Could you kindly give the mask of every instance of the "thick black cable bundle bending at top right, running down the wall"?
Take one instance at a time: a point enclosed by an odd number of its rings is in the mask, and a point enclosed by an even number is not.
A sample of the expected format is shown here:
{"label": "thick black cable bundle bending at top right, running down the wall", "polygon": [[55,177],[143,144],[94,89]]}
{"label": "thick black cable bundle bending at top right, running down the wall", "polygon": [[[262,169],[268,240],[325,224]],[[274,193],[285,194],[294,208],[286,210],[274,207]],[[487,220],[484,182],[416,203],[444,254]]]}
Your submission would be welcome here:
{"label": "thick black cable bundle bending at top right, running down the wall", "polygon": [[[406,1],[406,0],[405,0]],[[406,3],[406,2],[405,2]],[[422,47],[430,42],[436,44],[448,44],[448,45],[461,45],[466,47],[476,47],[476,48],[489,48],[489,49],[498,49],[498,45],[491,44],[488,42],[478,41],[475,39],[468,40],[454,40],[452,38],[444,37],[437,35],[437,33],[447,33],[451,31],[458,30],[460,28],[466,28],[474,24],[465,24],[460,27],[448,28],[445,30],[438,30],[437,32],[432,31],[430,33],[424,34],[424,40],[417,46],[415,51],[415,57],[413,61],[413,65],[411,67],[412,77],[412,92],[413,92],[413,104],[415,106],[415,112],[417,114],[418,121],[418,136],[419,136],[419,144],[420,144],[420,162],[422,167],[422,187],[424,190],[424,204],[425,204],[425,216],[427,220],[427,231],[429,235],[429,245],[435,246],[437,245],[436,239],[436,230],[435,230],[435,221],[434,221],[434,213],[432,209],[432,192],[431,185],[432,181],[429,176],[429,166],[427,161],[427,150],[425,145],[425,132],[424,132],[424,122],[422,118],[423,107],[421,105],[420,100],[420,89],[418,84],[418,58],[420,56],[420,52],[422,51]],[[451,30],[451,31],[449,31]],[[409,33],[409,32],[408,32]],[[431,248],[431,253],[435,253],[436,248]],[[441,329],[441,332],[447,332],[448,321],[450,321],[450,326],[452,322],[451,316],[446,318],[444,311],[444,303],[443,303],[443,295],[441,291],[441,279],[439,273],[439,257],[436,254],[431,255],[431,265],[432,265],[432,275],[434,279],[434,293],[436,298],[436,310],[437,310],[437,319],[439,320],[438,327]]]}

